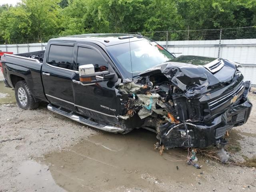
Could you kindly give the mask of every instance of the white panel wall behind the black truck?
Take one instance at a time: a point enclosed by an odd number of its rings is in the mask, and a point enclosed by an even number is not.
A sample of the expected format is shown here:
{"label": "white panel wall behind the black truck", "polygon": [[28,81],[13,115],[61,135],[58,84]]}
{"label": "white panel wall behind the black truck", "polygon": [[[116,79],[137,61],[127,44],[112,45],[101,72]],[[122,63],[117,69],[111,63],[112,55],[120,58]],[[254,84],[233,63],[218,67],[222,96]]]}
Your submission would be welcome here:
{"label": "white panel wall behind the black truck", "polygon": [[[166,41],[159,41],[160,45],[166,47]],[[24,53],[45,50],[47,43],[12,44],[0,45],[0,50]],[[252,81],[256,85],[256,39],[236,40],[191,40],[191,41],[168,41],[168,51],[180,55],[198,55],[208,57],[225,58],[243,65],[240,68],[245,80]]]}

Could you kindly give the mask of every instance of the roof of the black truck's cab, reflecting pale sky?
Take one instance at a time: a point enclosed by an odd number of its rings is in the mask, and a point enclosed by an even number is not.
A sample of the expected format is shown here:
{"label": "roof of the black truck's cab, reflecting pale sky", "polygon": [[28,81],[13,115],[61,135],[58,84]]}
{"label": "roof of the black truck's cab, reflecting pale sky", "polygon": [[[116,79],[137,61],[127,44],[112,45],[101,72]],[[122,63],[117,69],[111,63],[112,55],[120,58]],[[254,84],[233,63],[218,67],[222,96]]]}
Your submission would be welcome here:
{"label": "roof of the black truck's cab, reflecting pale sky", "polygon": [[133,42],[146,39],[140,34],[80,34],[64,36],[51,40],[79,41],[79,42],[98,42],[105,46],[111,46],[126,42]]}

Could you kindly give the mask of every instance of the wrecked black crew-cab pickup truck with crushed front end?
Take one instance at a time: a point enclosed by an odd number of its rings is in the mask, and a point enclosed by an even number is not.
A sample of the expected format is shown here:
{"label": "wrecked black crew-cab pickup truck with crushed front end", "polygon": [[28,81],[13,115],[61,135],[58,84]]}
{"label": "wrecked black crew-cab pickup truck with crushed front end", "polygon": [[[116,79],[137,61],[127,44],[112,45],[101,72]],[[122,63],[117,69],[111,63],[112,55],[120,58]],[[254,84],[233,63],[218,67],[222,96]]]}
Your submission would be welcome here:
{"label": "wrecked black crew-cab pickup truck with crushed front end", "polygon": [[145,128],[166,148],[225,143],[248,120],[250,82],[222,58],[175,58],[138,35],[82,34],[49,40],[46,50],[4,54],[4,82],[18,106],[48,109],[109,132]]}

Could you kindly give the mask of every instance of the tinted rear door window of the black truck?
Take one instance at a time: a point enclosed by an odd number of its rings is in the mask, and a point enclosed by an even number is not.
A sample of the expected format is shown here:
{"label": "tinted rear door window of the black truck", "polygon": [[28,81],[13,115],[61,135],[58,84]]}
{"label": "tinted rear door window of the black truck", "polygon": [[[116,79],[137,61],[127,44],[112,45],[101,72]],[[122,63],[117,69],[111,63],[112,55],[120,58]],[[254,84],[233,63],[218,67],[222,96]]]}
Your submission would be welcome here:
{"label": "tinted rear door window of the black truck", "polygon": [[48,64],[73,70],[72,53],[73,46],[51,45],[48,56]]}

